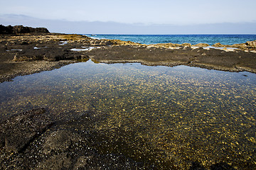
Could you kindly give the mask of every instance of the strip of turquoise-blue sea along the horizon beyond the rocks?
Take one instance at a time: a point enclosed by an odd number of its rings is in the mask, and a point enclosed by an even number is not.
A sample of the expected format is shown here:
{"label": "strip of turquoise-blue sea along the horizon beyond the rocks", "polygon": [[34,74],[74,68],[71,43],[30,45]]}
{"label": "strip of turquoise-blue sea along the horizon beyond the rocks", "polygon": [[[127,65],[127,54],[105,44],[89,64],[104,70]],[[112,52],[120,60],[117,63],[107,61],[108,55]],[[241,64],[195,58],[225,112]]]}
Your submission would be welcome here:
{"label": "strip of turquoise-blue sea along the horizon beyond the rocks", "polygon": [[223,45],[233,45],[256,40],[256,35],[86,35],[90,38],[96,39],[124,40],[147,45],[169,42],[176,44],[188,42],[192,45],[196,45],[198,43],[213,45],[220,42]]}

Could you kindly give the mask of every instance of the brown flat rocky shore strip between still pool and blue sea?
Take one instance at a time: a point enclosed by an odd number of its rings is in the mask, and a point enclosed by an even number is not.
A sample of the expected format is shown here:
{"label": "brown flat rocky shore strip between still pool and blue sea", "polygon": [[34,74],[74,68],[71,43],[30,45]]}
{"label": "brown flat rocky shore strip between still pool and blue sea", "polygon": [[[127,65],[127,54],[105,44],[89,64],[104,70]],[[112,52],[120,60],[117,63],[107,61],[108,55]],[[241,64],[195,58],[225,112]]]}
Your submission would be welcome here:
{"label": "brown flat rocky shore strip between still pool and blue sea", "polygon": [[[215,48],[208,48],[209,45],[203,43],[144,45],[60,33],[1,35],[0,82],[89,58],[105,63],[140,62],[169,67],[184,64],[228,72],[256,73],[255,44],[255,41],[236,45],[216,43],[213,45]],[[79,50],[86,47],[97,48]]]}

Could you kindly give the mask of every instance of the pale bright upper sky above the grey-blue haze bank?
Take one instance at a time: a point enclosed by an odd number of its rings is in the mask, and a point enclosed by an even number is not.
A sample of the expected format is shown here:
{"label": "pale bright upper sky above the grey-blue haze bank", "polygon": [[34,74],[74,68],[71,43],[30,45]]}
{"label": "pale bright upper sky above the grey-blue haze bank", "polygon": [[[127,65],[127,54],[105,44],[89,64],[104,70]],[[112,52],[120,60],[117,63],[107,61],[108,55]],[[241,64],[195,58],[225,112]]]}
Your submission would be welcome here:
{"label": "pale bright upper sky above the grey-blue haze bank", "polygon": [[255,0],[1,1],[0,13],[68,21],[201,24],[255,21]]}

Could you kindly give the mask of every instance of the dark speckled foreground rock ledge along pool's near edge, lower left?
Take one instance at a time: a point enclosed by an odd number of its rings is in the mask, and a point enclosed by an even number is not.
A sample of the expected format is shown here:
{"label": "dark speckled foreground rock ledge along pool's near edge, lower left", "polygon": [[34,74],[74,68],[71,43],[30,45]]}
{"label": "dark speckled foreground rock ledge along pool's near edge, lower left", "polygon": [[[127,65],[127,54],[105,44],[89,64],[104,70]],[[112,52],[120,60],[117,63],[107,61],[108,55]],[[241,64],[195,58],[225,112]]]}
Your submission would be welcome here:
{"label": "dark speckled foreground rock ledge along pool's near edge, lower left", "polygon": [[[61,114],[60,114],[61,115]],[[65,118],[52,115],[44,108],[12,116],[0,123],[1,169],[172,169],[166,164],[136,162],[122,154],[97,150],[102,132],[93,125],[101,118],[93,111]],[[101,140],[99,140],[99,139]],[[174,162],[174,164],[176,164]],[[190,169],[205,169],[188,162]],[[233,169],[225,163],[210,166]]]}

